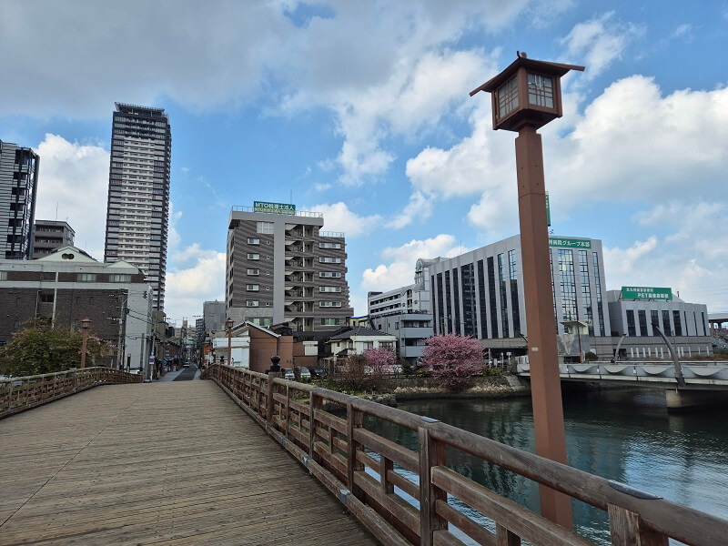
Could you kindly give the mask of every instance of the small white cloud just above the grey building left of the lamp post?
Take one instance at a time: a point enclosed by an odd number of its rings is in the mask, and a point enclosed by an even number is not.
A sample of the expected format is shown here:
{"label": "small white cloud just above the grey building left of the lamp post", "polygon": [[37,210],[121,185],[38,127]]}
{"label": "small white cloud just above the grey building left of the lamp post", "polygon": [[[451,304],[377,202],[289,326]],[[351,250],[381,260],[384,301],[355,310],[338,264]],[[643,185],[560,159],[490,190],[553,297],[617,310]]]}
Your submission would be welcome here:
{"label": "small white cloud just above the grey building left of the lamp post", "polygon": [[455,245],[453,236],[444,233],[434,238],[412,239],[401,247],[385,248],[381,256],[389,264],[365,269],[361,278],[361,289],[387,291],[412,284],[418,258],[450,257],[464,251]]}

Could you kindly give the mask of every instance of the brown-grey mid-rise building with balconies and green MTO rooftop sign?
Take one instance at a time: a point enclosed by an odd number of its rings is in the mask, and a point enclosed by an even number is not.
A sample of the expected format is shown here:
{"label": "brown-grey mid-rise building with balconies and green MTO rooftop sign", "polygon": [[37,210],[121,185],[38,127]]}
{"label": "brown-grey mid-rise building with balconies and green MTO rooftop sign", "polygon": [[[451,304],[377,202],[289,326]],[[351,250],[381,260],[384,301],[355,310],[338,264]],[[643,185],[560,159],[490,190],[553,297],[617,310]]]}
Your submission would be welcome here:
{"label": "brown-grey mid-rise building with balconies and green MTO rooftop sign", "polygon": [[338,329],[352,315],[343,233],[293,205],[233,207],[227,225],[226,315],[296,331]]}

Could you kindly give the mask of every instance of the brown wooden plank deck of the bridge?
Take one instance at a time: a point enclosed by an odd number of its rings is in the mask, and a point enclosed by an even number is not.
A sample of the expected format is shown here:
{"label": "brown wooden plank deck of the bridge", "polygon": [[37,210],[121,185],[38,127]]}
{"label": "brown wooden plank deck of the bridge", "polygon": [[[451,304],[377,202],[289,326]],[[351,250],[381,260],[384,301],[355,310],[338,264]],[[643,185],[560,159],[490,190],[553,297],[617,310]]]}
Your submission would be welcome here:
{"label": "brown wooden plank deck of the bridge", "polygon": [[374,544],[212,381],[0,420],[0,544]]}

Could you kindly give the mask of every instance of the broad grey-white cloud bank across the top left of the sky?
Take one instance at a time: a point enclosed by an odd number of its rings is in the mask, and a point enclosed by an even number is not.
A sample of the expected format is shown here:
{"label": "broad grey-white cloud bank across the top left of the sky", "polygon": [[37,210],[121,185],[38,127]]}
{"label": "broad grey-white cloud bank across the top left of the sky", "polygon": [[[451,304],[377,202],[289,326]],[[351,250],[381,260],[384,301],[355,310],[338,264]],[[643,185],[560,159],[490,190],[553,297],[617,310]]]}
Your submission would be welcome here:
{"label": "broad grey-white cloud bank across the top left of the sky", "polygon": [[[25,85],[22,94],[0,89],[0,116],[97,118],[115,100],[164,97],[197,110],[260,100],[284,116],[325,108],[342,143],[319,165],[359,184],[394,160],[382,144],[388,136],[431,130],[488,72],[483,52],[451,50],[453,40],[496,31],[530,4],[5,3],[0,46],[15,54],[0,59],[0,72],[22,73]],[[140,62],[147,58],[164,62]],[[134,66],[134,77],[118,66]]]}

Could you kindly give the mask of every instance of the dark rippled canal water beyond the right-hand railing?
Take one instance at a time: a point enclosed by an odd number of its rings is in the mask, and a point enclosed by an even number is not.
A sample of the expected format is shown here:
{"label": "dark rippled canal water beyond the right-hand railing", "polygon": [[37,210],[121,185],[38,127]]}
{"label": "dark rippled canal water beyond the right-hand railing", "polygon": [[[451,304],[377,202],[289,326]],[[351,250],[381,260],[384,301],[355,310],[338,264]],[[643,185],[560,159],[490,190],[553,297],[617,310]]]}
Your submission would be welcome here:
{"label": "dark rippled canal water beyond the right-hand railing", "polygon": [[[399,408],[534,452],[530,398],[411,400]],[[659,390],[570,392],[564,395],[564,421],[571,466],[728,519],[728,410],[668,414]],[[379,420],[365,426],[417,450],[414,432]],[[539,510],[531,480],[461,452],[449,450],[447,457],[451,468],[471,480]],[[493,529],[467,505],[450,503]],[[573,501],[573,511],[579,534],[609,544],[604,511],[581,501]]]}

